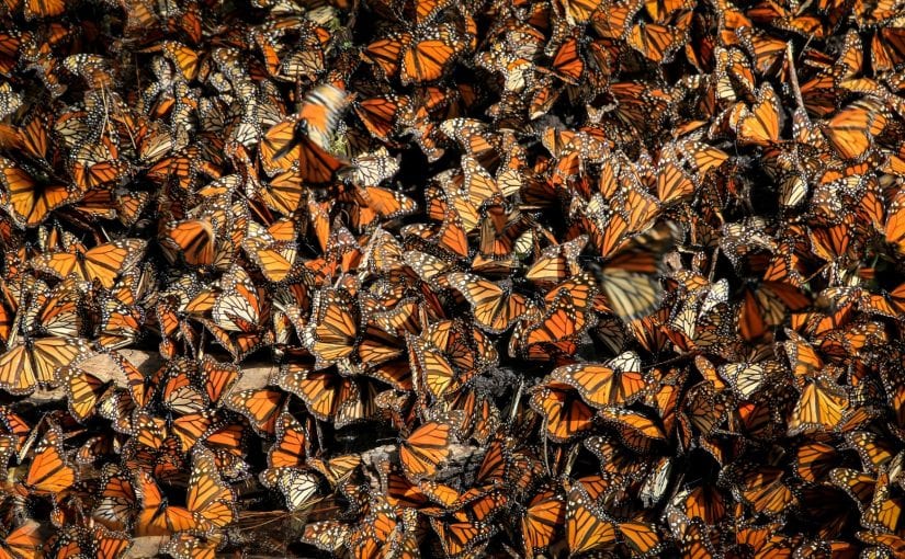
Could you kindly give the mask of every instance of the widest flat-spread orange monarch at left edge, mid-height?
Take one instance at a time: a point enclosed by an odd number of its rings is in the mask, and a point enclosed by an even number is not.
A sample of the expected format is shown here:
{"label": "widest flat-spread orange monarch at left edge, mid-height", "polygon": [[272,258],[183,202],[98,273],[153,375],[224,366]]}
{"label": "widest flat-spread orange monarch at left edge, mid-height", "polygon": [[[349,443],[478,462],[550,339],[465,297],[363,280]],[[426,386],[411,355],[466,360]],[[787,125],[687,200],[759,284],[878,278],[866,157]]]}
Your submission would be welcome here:
{"label": "widest flat-spread orange monarch at left edge, mid-height", "polygon": [[87,282],[98,281],[102,287],[113,287],[116,277],[132,269],[145,254],[147,241],[122,239],[92,249],[71,247],[67,252],[38,254],[32,264],[39,272],[66,278],[70,274]]}

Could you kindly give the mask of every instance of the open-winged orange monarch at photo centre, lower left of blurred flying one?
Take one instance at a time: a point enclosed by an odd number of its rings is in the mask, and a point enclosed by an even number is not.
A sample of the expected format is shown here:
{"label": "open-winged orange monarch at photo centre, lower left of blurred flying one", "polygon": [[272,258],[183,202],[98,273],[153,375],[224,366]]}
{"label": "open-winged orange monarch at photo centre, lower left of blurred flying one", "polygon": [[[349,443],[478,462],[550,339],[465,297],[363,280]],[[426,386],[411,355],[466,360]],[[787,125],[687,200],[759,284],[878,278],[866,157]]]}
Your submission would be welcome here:
{"label": "open-winged orange monarch at photo centre, lower left of blurred flying one", "polygon": [[448,274],[446,280],[465,296],[472,305],[475,322],[487,332],[505,332],[525,311],[523,296],[479,276],[454,272]]}

